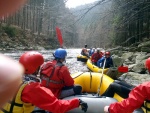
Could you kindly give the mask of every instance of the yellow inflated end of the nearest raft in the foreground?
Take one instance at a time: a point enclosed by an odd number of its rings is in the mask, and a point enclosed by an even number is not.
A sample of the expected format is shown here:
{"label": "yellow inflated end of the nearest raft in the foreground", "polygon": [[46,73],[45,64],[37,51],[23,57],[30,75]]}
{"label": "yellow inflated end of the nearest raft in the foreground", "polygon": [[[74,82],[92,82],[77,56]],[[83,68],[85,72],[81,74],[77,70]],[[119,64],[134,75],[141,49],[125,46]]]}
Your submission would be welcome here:
{"label": "yellow inflated end of the nearest raft in the foreground", "polygon": [[[98,88],[100,87],[101,76],[102,76],[101,73],[94,73],[94,72],[78,72],[72,74],[75,84],[80,84],[82,86],[82,92],[87,93],[97,93]],[[98,93],[100,95],[103,94],[113,81],[114,81],[113,79],[103,74],[100,92]],[[114,98],[117,99],[118,101],[123,100],[123,98],[117,94],[114,95]]]}

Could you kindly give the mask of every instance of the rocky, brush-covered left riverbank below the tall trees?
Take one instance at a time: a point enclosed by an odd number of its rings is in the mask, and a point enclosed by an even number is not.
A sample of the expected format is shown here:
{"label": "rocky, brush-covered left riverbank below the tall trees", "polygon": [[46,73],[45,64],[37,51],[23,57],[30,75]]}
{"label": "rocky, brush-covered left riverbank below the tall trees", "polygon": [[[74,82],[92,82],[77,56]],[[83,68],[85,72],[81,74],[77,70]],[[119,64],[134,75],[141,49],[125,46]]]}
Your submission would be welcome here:
{"label": "rocky, brush-covered left riverbank below the tall trees", "polygon": [[44,34],[33,34],[17,26],[0,25],[0,51],[43,50],[59,47],[57,39]]}

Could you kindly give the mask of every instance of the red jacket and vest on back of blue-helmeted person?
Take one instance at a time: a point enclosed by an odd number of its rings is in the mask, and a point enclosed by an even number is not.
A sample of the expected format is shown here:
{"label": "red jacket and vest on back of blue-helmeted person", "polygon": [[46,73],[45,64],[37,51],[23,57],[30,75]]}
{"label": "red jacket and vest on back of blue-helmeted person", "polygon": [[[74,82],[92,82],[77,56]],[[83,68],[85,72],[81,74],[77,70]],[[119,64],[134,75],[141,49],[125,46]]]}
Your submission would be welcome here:
{"label": "red jacket and vest on back of blue-helmeted person", "polygon": [[62,63],[54,60],[53,62],[48,61],[42,67],[40,71],[40,76],[42,80],[42,85],[49,89],[61,89],[64,87],[63,79],[59,77],[59,70],[63,66]]}

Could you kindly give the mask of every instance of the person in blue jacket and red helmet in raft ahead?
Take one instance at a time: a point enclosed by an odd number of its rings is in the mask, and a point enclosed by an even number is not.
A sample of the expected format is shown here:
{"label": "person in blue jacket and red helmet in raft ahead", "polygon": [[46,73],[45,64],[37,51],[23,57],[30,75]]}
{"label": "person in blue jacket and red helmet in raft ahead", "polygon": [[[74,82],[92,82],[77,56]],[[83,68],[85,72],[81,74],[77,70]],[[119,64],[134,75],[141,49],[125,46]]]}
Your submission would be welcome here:
{"label": "person in blue jacket and red helmet in raft ahead", "polygon": [[105,52],[105,56],[103,56],[97,61],[97,66],[102,68],[104,66],[104,63],[105,63],[105,68],[113,67],[113,60],[110,56],[110,52]]}

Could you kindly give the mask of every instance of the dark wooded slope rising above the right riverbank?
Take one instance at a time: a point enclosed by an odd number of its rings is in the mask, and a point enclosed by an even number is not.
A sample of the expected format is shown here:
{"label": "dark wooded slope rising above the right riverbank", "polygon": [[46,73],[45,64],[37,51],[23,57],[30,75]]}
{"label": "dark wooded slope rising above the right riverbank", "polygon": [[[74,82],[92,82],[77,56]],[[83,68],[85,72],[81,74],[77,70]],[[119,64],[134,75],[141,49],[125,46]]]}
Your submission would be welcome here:
{"label": "dark wooded slope rising above the right riverbank", "polygon": [[84,43],[101,47],[131,46],[150,38],[149,0],[104,0],[93,5],[80,20],[80,26],[85,28],[80,36],[85,37]]}

